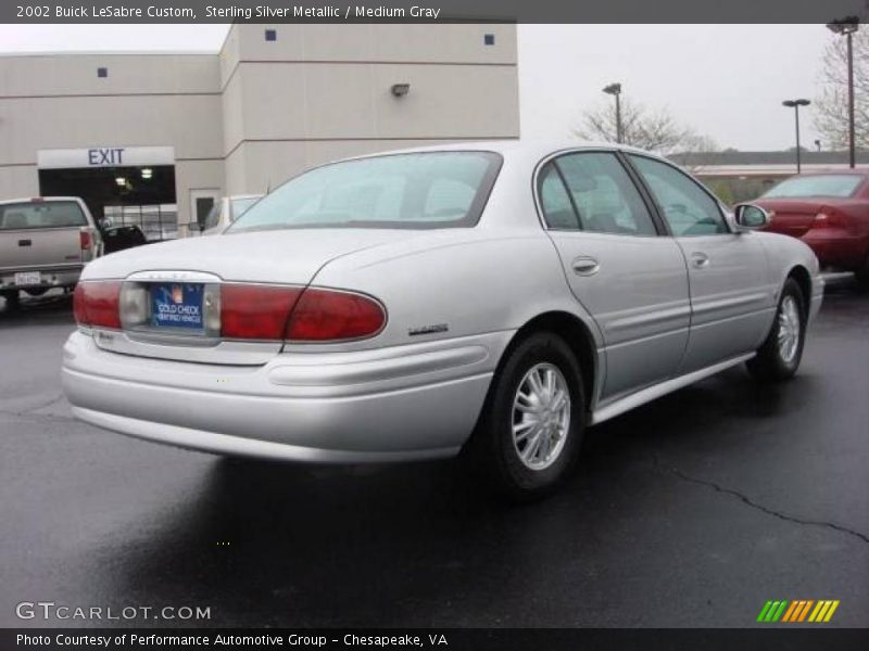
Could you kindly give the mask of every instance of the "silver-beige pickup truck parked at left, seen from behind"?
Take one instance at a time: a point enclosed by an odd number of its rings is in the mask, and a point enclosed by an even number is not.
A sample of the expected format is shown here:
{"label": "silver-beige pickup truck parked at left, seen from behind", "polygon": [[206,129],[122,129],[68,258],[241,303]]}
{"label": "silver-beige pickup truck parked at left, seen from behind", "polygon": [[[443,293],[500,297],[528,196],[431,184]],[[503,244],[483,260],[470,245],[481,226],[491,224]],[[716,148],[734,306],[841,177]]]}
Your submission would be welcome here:
{"label": "silver-beige pickup truck parked at left, seen from behind", "polygon": [[38,296],[75,286],[81,269],[102,254],[102,238],[85,202],[75,196],[0,201],[0,296],[18,305],[20,292]]}

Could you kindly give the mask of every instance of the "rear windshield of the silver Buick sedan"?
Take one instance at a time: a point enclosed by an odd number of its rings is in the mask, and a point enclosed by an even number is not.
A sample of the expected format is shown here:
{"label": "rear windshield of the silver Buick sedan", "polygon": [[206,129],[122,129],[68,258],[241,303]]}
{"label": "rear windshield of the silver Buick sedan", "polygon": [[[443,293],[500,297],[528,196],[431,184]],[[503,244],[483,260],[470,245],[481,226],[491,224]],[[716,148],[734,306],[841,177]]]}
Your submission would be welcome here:
{"label": "rear windshield of the silver Buick sedan", "polygon": [[501,156],[492,152],[391,154],[325,165],[261,199],[229,232],[474,226],[500,167]]}

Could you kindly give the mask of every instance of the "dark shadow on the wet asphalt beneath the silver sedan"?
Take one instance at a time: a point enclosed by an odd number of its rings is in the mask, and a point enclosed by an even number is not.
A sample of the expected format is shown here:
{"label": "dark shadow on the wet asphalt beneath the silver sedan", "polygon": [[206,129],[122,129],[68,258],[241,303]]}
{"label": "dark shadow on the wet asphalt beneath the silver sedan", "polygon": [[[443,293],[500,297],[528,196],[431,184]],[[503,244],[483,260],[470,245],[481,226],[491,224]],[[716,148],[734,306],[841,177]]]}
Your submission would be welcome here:
{"label": "dark shadow on the wet asphalt beneath the silver sedan", "polygon": [[209,604],[222,626],[583,622],[569,603],[541,614],[521,596],[545,601],[617,572],[585,559],[606,558],[616,532],[648,518],[656,487],[669,481],[653,457],[685,445],[726,455],[719,448],[733,442],[722,421],[772,419],[786,401],[742,370],[673,394],[589,430],[574,477],[528,506],[487,493],[457,461],[307,468],[218,459],[197,494],[158,519],[147,548],[108,561],[122,582],[112,591]]}

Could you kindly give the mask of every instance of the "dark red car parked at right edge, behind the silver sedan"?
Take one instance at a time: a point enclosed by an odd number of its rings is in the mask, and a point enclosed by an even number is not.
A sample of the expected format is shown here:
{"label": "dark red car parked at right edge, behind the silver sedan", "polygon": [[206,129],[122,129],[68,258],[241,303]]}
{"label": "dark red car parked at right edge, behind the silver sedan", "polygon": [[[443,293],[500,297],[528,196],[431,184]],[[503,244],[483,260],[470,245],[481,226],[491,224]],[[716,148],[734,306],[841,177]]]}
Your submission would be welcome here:
{"label": "dark red car parked at right edge, behind the silver sedan", "polygon": [[869,169],[791,177],[753,203],[772,214],[767,230],[803,240],[821,268],[869,283]]}

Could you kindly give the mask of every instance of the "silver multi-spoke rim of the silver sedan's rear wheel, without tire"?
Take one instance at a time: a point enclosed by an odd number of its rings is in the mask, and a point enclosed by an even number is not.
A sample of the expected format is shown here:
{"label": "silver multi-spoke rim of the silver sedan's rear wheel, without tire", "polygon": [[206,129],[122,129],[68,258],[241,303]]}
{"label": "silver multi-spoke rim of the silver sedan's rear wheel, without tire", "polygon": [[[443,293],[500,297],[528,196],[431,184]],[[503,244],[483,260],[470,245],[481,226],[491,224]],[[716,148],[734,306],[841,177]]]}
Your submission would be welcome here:
{"label": "silver multi-spoke rim of the silver sedan's rear wheel, without tire", "polygon": [[542,362],[525,374],[513,399],[513,447],[526,468],[543,470],[570,431],[570,391],[558,367]]}

